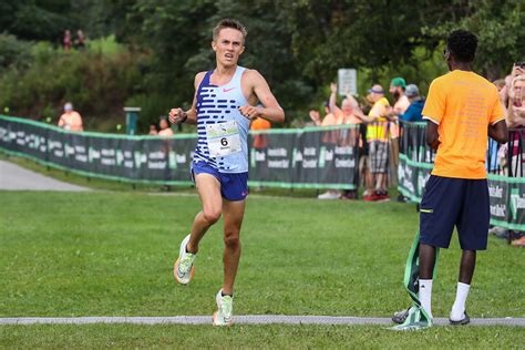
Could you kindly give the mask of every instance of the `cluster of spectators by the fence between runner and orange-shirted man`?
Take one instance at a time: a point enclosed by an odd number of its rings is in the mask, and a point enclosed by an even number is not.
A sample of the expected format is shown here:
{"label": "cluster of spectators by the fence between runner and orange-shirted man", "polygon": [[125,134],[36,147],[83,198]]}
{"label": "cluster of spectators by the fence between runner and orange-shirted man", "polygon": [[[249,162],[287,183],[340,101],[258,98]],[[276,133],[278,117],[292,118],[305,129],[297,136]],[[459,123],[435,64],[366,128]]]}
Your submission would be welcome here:
{"label": "cluster of spectators by the fence between runner and orange-shirted man", "polygon": [[[363,199],[369,202],[389,200],[389,177],[395,177],[399,163],[399,121],[420,122],[424,106],[424,97],[420,95],[415,84],[406,85],[403,78],[391,80],[390,95],[392,104],[387,99],[383,86],[372,85],[362,103],[351,94],[344,96],[341,106],[337,104],[338,86],[330,85],[330,96],[325,103],[325,115],[319,111],[309,112],[316,126],[332,126],[341,124],[358,124],[359,134],[359,172],[363,178]],[[393,169],[393,171],[392,171]],[[353,199],[356,192],[339,193],[327,191],[318,196],[319,199]],[[400,198],[401,199],[401,198]]]}

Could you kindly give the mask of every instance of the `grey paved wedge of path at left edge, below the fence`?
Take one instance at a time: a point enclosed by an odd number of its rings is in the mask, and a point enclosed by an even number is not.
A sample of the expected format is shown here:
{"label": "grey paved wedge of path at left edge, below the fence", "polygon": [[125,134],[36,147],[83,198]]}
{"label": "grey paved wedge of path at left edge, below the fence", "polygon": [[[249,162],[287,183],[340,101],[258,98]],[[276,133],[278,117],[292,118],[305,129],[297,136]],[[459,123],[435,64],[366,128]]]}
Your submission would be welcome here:
{"label": "grey paved wedge of path at left edge, below the fence", "polygon": [[16,164],[0,161],[0,189],[8,191],[91,191],[86,187],[71,185]]}

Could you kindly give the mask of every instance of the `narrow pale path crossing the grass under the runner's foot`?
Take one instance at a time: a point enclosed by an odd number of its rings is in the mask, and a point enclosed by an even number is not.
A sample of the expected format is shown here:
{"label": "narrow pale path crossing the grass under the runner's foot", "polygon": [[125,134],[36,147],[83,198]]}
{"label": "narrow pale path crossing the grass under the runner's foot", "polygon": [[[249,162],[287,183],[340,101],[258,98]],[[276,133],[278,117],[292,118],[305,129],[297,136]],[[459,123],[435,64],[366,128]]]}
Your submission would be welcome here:
{"label": "narrow pale path crossing the grass under the runner's foot", "polygon": [[[349,316],[285,316],[247,315],[235,316],[237,325],[379,325],[393,326],[389,318]],[[212,316],[174,317],[20,317],[0,318],[2,325],[90,325],[90,323],[134,323],[134,325],[210,325]],[[444,318],[434,319],[435,325],[449,325]],[[477,318],[472,326],[519,326],[525,327],[525,318]]]}

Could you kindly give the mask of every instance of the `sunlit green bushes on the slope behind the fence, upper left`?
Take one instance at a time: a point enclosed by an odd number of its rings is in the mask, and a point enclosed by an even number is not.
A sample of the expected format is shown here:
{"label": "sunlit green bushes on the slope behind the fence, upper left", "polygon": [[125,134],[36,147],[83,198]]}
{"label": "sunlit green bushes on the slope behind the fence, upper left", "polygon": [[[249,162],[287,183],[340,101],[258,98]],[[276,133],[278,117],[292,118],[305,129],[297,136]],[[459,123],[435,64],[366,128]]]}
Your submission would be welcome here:
{"label": "sunlit green bushes on the slope behind the fence, upper left", "polygon": [[[20,44],[18,51],[22,48]],[[124,102],[141,80],[141,55],[111,37],[90,42],[90,49],[83,51],[64,52],[45,42],[30,48],[27,66],[4,64],[0,76],[0,106],[9,106],[14,115],[55,120],[66,101],[73,102],[84,119],[123,115]],[[4,51],[9,52],[2,49],[0,54]]]}

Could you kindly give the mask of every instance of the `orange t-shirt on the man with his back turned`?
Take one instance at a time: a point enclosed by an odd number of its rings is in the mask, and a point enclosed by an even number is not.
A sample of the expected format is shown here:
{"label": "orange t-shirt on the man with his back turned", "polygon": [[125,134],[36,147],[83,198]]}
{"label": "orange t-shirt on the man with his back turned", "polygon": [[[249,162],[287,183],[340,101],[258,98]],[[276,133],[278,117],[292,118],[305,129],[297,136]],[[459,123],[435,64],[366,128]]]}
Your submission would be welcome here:
{"label": "orange t-shirt on the man with his back turned", "polygon": [[434,79],[422,114],[440,125],[432,175],[486,178],[487,127],[504,120],[496,86],[474,72],[455,70]]}

